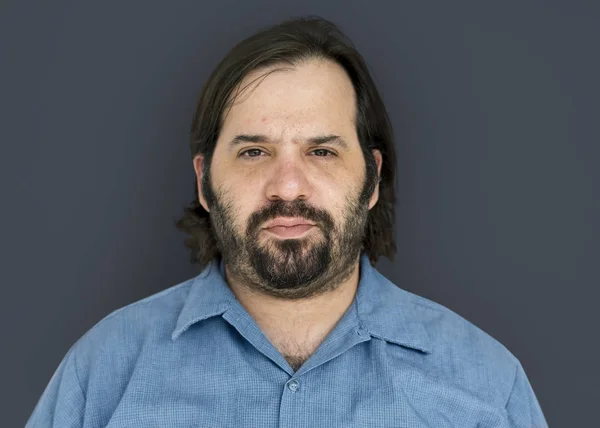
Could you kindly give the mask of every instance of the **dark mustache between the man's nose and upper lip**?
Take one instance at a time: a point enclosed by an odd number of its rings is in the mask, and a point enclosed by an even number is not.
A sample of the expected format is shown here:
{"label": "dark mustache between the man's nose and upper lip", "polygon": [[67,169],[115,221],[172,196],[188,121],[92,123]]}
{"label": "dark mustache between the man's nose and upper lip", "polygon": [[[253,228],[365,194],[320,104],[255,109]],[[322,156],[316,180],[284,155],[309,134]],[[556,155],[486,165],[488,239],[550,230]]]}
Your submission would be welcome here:
{"label": "dark mustache between the man's nose and upper lip", "polygon": [[254,233],[262,224],[277,217],[302,217],[326,230],[331,230],[334,225],[333,218],[324,209],[313,207],[305,201],[287,202],[280,199],[250,215],[247,234]]}

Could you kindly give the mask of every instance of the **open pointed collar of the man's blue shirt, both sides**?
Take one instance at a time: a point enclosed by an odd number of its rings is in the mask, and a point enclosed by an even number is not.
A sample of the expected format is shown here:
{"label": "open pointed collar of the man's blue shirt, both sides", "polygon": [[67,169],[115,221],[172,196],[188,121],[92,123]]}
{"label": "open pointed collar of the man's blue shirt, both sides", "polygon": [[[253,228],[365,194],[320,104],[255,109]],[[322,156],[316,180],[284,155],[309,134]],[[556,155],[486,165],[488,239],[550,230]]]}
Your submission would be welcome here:
{"label": "open pointed collar of the man's blue shirt, both sides", "polygon": [[[431,352],[431,341],[414,295],[379,273],[364,253],[360,258],[360,280],[354,304],[359,323],[371,336]],[[171,338],[176,340],[191,325],[222,315],[233,305],[240,303],[227,285],[222,259],[215,258],[194,278]]]}

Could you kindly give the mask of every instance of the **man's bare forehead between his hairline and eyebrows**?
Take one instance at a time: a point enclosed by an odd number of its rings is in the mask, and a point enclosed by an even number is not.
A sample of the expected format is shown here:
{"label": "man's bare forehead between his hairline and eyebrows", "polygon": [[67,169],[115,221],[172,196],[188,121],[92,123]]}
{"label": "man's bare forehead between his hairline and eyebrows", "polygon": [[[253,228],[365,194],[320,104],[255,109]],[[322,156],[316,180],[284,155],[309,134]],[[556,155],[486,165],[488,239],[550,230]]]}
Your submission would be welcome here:
{"label": "man's bare forehead between his hairline and eyebrows", "polygon": [[328,60],[274,65],[249,73],[234,91],[222,133],[295,130],[342,133],[355,127],[356,98],[346,71]]}

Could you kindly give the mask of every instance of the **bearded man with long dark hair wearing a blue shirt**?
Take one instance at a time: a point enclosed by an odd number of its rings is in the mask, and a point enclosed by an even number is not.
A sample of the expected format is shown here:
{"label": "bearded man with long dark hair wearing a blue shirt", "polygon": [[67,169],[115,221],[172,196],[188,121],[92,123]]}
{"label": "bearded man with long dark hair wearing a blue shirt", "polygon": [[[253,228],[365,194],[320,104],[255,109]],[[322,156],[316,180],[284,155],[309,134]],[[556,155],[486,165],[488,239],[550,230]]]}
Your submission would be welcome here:
{"label": "bearded man with long dark hair wearing a blue shirt", "polygon": [[28,427],[546,427],[519,361],[378,273],[395,151],[361,56],[298,19],[237,45],[192,124],[197,277],[69,350]]}

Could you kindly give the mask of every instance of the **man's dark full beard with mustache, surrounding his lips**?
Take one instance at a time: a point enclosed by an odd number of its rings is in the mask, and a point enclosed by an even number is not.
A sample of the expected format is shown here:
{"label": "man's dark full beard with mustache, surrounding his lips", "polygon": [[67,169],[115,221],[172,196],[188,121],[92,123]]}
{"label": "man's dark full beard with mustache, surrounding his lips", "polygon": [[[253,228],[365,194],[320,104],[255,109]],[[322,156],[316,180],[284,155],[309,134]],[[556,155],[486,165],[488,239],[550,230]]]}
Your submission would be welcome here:
{"label": "man's dark full beard with mustache, surrounding his lips", "polygon": [[[245,228],[236,227],[235,205],[222,188],[205,196],[217,246],[229,273],[252,290],[278,298],[301,299],[337,288],[353,273],[363,246],[373,184],[346,198],[343,217],[305,201],[276,200],[252,213]],[[280,239],[262,229],[276,217],[301,217],[314,223],[299,238]]]}

